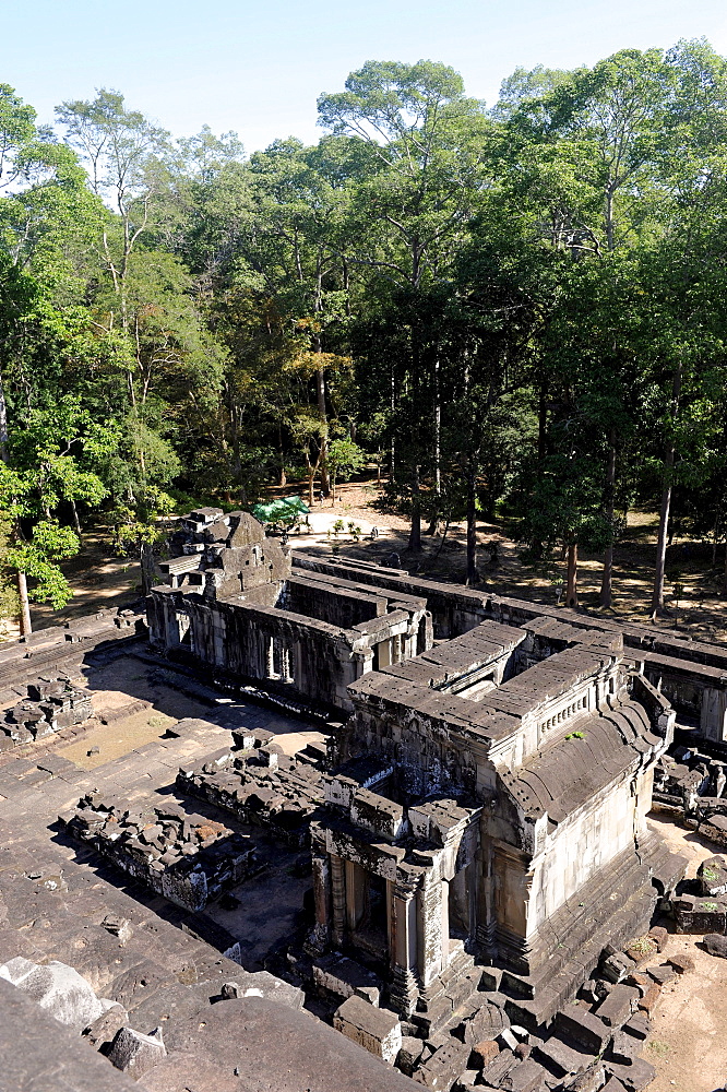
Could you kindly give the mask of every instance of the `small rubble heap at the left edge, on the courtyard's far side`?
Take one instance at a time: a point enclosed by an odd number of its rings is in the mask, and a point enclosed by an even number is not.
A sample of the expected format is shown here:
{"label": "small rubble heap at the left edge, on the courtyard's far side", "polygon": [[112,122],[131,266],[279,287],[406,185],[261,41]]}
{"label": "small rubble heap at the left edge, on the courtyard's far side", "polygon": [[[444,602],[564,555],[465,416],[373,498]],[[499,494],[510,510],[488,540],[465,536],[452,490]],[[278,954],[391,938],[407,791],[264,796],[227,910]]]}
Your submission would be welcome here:
{"label": "small rubble heap at the left edge, on the courtyard's far side", "polygon": [[90,692],[73,686],[65,675],[40,677],[25,689],[27,696],[7,710],[0,722],[0,751],[51,736],[93,716]]}

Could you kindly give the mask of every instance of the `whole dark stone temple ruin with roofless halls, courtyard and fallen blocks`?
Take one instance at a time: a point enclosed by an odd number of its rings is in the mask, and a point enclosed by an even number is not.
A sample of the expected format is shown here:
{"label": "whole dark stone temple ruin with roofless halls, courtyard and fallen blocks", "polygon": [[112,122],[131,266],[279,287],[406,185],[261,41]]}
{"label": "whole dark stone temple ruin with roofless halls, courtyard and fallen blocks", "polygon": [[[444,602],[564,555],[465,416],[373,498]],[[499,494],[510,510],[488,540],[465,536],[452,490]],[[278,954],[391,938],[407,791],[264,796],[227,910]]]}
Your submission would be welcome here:
{"label": "whole dark stone temple ruin with roofless halls, courtyard and fallen blocks", "polygon": [[[15,673],[5,723],[27,732],[0,763],[8,1011],[49,959],[65,968],[52,997],[86,976],[96,1014],[74,1033],[114,1063],[109,1088],[182,1092],[192,1071],[200,1092],[250,1092],[261,1072],[279,1092],[647,1087],[649,1016],[688,972],[668,949],[658,962],[656,915],[708,926],[727,951],[727,865],[686,883],[646,820],[671,812],[727,846],[727,652],[295,553],[243,512],[194,511],[176,545],[147,634],[103,618],[96,638],[86,625],[0,654],[0,682]],[[75,768],[73,711],[131,660],[130,678],[160,679],[191,712]],[[138,716],[150,699],[133,692]],[[46,802],[61,857],[47,819],[10,835]],[[133,898],[116,893],[127,882]],[[70,888],[95,892],[93,924]],[[46,903],[58,942],[27,925]],[[254,922],[284,911],[253,957]]]}

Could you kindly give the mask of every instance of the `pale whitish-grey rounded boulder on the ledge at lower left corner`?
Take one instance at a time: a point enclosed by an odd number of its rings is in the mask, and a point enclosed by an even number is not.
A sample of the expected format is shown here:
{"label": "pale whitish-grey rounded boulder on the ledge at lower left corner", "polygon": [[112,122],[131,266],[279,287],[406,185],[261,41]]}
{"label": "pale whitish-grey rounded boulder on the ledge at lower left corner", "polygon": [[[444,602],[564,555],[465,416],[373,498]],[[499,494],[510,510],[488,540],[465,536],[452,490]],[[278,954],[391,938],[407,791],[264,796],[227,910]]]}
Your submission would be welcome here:
{"label": "pale whitish-grey rounded boulder on the ledge at lower left corner", "polygon": [[0,966],[0,977],[22,989],[59,1023],[74,1031],[83,1031],[104,1012],[104,1006],[85,978],[57,960],[39,966],[19,956]]}

